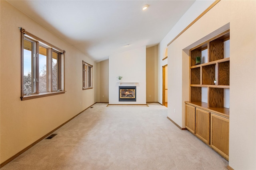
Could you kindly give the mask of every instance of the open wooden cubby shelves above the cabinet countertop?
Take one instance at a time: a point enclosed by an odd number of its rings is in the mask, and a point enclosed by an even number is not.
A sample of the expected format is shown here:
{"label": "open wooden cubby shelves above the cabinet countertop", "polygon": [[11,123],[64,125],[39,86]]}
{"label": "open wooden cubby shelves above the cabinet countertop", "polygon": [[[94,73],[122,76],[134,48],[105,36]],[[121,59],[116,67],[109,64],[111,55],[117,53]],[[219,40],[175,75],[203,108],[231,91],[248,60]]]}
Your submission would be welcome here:
{"label": "open wooden cubby shelves above the cabinet countertop", "polygon": [[[202,87],[208,88],[207,107],[224,107],[224,89],[229,88],[230,57],[224,58],[224,41],[229,30],[190,49],[190,102],[202,102]],[[196,65],[196,57],[208,50],[206,63]],[[216,82],[214,82],[216,80]]]}

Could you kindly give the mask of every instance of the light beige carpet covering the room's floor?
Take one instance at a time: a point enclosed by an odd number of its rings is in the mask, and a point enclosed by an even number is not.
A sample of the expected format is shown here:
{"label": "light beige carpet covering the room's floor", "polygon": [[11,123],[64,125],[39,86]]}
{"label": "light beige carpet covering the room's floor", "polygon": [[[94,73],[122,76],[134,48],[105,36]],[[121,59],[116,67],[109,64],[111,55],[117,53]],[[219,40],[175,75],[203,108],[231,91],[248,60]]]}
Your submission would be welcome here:
{"label": "light beige carpet covering the room's floor", "polygon": [[225,170],[228,161],[178,129],[158,103],[97,103],[1,170]]}

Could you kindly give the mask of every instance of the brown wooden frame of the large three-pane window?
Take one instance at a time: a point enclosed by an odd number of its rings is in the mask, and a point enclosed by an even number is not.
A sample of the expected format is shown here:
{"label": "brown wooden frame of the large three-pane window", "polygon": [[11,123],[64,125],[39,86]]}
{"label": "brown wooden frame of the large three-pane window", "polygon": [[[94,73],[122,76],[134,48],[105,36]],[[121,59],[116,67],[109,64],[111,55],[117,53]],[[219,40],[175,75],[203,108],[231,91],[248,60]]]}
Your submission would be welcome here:
{"label": "brown wooden frame of the large three-pane window", "polygon": [[[65,51],[51,45],[50,43],[36,37],[29,33],[24,28],[20,27],[21,32],[21,100],[28,100],[33,98],[41,98],[45,96],[52,96],[65,93]],[[31,76],[35,80],[32,80],[32,87],[35,88],[31,93],[24,94],[24,39],[30,41],[36,47],[32,47],[32,62],[31,62]],[[39,47],[45,47],[47,50],[46,56],[46,91],[39,92]],[[35,50],[35,51],[34,51]],[[52,89],[52,54],[58,54],[57,58],[57,90]],[[35,61],[34,61],[35,60]],[[33,85],[35,84],[35,85]]]}

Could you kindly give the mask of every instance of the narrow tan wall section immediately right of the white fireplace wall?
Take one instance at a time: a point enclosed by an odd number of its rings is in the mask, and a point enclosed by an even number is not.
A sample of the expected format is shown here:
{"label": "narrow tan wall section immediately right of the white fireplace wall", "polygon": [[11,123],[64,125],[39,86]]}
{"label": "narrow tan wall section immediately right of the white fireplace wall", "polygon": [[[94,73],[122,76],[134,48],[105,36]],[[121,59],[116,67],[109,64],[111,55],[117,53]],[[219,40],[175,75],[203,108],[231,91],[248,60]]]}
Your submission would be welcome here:
{"label": "narrow tan wall section immediately right of the white fireplace wall", "polygon": [[146,102],[158,102],[158,45],[146,48]]}

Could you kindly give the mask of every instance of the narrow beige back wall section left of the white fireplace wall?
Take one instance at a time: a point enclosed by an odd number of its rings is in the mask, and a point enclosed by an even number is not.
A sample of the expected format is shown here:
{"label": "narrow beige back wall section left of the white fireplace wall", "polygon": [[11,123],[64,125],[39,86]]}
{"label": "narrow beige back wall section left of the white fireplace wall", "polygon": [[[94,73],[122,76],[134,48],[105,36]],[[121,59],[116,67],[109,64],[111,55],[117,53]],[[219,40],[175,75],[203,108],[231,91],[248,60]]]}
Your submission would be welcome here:
{"label": "narrow beige back wall section left of the white fireplace wall", "polygon": [[97,98],[97,102],[108,102],[108,60],[97,63],[97,68],[97,83],[99,86],[99,96]]}

